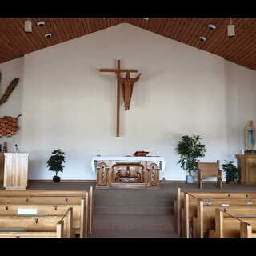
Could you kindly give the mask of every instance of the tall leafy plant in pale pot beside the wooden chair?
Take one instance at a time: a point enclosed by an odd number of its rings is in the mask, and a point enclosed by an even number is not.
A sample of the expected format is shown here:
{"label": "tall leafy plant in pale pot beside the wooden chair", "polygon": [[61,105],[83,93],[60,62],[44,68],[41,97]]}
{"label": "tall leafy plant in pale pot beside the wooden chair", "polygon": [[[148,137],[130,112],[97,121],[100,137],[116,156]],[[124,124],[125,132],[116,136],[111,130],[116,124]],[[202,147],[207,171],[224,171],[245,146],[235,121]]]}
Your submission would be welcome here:
{"label": "tall leafy plant in pale pot beside the wooden chair", "polygon": [[180,155],[180,160],[177,163],[189,174],[186,175],[187,183],[194,183],[194,176],[191,174],[197,170],[197,159],[204,157],[204,153],[206,153],[206,147],[199,142],[200,140],[199,135],[184,135],[175,149]]}

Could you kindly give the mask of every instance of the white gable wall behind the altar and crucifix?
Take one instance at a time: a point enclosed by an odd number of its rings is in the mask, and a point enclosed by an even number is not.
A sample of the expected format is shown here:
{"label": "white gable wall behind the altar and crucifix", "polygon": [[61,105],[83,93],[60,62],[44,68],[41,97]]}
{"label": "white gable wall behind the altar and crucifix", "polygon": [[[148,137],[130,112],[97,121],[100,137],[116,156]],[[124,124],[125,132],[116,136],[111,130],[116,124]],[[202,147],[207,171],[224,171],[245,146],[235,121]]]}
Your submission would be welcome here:
{"label": "white gable wall behind the altar and crucifix", "polygon": [[[115,58],[123,68],[142,72],[130,110],[122,106],[120,138],[115,137],[115,77],[98,72],[114,67]],[[208,150],[202,160],[222,163],[241,150],[241,122],[255,118],[254,70],[129,24],[26,54],[24,74],[22,129],[15,136],[30,154],[30,179],[50,179],[46,161],[61,148],[62,179],[94,179],[90,159],[100,149],[104,155],[159,150],[166,158],[161,178],[183,180],[186,172],[174,152],[182,134],[200,134]],[[234,109],[242,114],[236,122]]]}

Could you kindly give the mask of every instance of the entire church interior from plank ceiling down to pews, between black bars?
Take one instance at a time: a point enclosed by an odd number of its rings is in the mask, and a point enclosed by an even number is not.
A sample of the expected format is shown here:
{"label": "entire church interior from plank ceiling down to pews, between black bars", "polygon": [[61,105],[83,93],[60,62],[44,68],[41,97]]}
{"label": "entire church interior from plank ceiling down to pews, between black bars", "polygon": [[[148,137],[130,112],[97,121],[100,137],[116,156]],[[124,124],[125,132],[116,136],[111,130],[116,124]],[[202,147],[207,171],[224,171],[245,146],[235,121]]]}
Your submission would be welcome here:
{"label": "entire church interior from plank ceiling down to pews, between black bars", "polygon": [[255,25],[0,18],[0,238],[256,238]]}

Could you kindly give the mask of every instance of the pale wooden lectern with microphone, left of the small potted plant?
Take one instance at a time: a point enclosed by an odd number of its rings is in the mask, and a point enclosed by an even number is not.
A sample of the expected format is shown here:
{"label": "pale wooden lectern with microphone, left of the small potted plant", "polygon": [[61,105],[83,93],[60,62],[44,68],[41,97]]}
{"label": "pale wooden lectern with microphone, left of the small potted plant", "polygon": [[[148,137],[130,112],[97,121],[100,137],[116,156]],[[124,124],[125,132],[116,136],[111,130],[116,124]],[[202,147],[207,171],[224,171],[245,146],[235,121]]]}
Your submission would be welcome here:
{"label": "pale wooden lectern with microphone, left of the small potted plant", "polygon": [[29,154],[5,153],[3,186],[6,190],[26,190]]}

